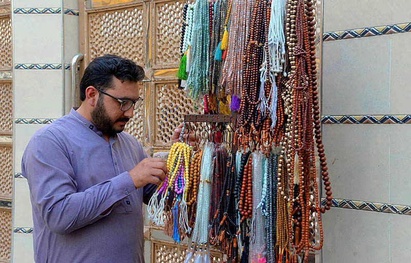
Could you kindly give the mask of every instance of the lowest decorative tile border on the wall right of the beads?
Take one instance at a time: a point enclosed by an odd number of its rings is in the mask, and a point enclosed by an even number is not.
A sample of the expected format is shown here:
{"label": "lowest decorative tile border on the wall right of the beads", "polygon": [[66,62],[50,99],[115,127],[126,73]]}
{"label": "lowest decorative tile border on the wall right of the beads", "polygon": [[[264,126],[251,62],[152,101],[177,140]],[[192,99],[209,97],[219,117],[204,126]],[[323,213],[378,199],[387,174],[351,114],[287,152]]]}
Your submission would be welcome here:
{"label": "lowest decorative tile border on the wall right of the beads", "polygon": [[[321,204],[325,205],[325,202],[326,202],[326,199],[322,198]],[[364,211],[383,212],[383,213],[400,214],[400,215],[411,215],[411,206],[408,206],[408,205],[396,205],[396,204],[373,203],[373,202],[365,202],[365,201],[333,199],[331,206],[339,207],[339,208],[364,210]]]}

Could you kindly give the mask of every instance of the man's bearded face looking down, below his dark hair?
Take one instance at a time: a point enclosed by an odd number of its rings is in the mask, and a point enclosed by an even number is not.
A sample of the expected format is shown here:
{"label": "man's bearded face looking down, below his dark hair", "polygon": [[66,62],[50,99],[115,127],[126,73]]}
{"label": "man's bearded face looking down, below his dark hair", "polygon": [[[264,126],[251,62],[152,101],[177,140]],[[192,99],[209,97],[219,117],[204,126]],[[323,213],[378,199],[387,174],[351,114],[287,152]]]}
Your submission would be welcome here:
{"label": "man's bearded face looking down, below his dark hair", "polygon": [[[138,82],[121,82],[121,80],[113,76],[112,84],[114,88],[105,92],[114,97],[136,100],[140,96]],[[103,133],[109,136],[122,132],[127,121],[133,117],[133,106],[127,111],[121,111],[121,104],[116,99],[103,93],[99,93],[98,96],[96,106],[91,111],[92,121]]]}

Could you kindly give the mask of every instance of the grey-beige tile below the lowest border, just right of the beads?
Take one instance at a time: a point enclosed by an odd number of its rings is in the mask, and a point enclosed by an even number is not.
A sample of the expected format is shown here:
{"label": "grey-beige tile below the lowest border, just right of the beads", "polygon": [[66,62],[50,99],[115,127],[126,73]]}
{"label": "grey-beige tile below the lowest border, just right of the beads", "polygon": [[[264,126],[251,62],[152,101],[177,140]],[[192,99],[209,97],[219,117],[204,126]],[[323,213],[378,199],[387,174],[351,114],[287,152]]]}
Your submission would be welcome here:
{"label": "grey-beige tile below the lowest border, just right of the beads", "polygon": [[387,213],[331,208],[322,219],[322,262],[389,262]]}

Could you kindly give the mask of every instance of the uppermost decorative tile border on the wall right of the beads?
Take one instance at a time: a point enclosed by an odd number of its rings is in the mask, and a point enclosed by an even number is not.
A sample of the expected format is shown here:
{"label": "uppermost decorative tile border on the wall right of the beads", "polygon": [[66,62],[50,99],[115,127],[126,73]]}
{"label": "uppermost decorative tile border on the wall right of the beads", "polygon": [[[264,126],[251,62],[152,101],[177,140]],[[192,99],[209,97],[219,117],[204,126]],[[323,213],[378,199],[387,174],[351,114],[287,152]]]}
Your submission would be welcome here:
{"label": "uppermost decorative tile border on the wall right of the beads", "polygon": [[411,23],[367,27],[359,29],[349,29],[344,31],[328,32],[323,34],[323,41],[352,39],[372,36],[382,36],[383,34],[405,33],[411,31]]}

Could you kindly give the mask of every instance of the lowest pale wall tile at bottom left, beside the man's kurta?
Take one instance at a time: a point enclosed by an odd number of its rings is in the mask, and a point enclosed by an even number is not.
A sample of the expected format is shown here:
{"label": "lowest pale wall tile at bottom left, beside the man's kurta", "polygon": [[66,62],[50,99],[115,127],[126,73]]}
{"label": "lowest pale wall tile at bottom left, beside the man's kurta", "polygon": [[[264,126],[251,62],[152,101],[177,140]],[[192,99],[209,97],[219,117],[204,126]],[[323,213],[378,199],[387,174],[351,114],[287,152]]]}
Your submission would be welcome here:
{"label": "lowest pale wall tile at bottom left, beside the man's kurta", "polygon": [[33,235],[13,233],[13,263],[34,263]]}

